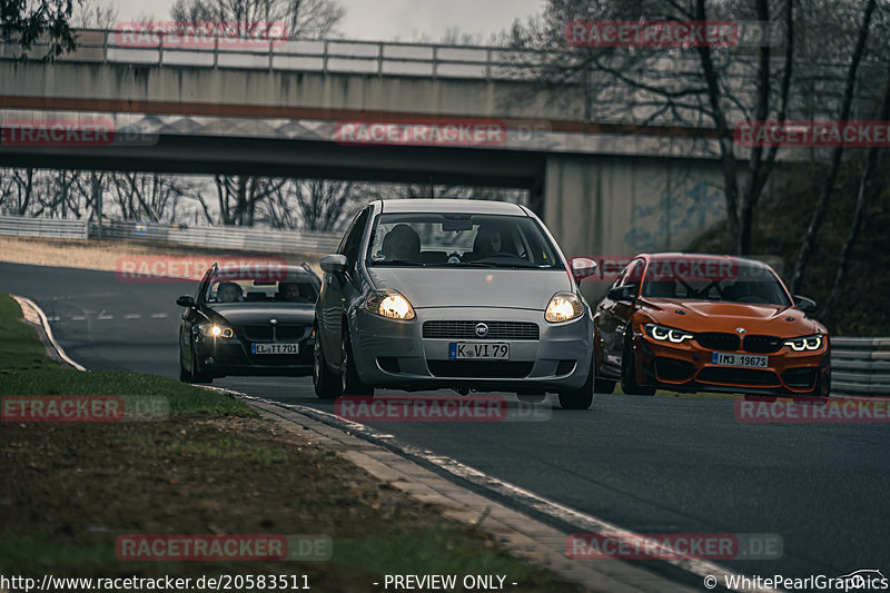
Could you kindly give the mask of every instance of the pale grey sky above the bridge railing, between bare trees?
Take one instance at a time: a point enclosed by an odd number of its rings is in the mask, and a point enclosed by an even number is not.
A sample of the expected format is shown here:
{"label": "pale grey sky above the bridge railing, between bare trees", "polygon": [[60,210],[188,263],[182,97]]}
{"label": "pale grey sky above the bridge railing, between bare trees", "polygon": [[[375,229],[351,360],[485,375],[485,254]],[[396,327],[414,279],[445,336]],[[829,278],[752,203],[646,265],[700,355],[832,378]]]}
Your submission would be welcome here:
{"label": "pale grey sky above the bridge railing, between bare trees", "polygon": [[[115,0],[122,21],[145,14],[169,18],[174,0]],[[525,21],[543,0],[339,0],[346,17],[339,29],[345,38],[385,41],[439,41],[451,29],[478,36],[486,43],[492,33]]]}

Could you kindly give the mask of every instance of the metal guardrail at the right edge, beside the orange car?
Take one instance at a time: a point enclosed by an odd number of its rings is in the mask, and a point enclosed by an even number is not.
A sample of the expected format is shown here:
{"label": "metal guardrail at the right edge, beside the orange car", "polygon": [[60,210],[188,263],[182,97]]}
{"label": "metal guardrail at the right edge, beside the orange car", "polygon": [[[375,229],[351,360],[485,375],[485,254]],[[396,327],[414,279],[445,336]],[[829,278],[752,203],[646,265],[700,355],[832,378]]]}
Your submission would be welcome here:
{"label": "metal guardrail at the right edge, beside the orange car", "polygon": [[832,395],[890,395],[890,337],[831,338]]}

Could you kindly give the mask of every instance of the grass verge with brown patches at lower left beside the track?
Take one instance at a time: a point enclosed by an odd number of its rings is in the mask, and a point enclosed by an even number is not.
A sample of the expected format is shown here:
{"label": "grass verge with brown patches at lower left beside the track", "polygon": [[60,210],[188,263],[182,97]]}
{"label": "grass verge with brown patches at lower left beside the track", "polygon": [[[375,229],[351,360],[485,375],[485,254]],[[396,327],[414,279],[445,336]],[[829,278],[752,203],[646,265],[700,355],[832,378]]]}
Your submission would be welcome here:
{"label": "grass verge with brown patches at lower left beside the track", "polygon": [[[490,574],[518,583],[513,591],[581,590],[373,478],[312,433],[281,434],[241,402],[162,377],[62,368],[20,317],[0,295],[0,394],[164,395],[172,413],[164,422],[0,423],[0,574],[306,575],[315,591],[346,593],[379,591],[373,583],[385,574]],[[332,540],[333,556],[131,562],[116,554],[125,534],[314,534]]]}

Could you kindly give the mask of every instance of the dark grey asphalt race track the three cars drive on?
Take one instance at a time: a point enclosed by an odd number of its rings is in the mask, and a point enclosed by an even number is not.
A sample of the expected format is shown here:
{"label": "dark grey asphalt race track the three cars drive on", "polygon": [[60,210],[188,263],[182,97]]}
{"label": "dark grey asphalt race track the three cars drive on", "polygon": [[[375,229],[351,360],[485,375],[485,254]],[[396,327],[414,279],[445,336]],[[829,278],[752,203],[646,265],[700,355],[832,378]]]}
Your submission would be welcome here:
{"label": "dark grey asphalt race track the three cars drive on", "polygon": [[[0,291],[32,298],[68,355],[93,369],[177,377],[174,302],[195,288],[0,264]],[[214,384],[333,412],[308,377]],[[597,395],[587,412],[553,406],[546,422],[374,427],[640,533],[782,537],[779,560],[715,561],[732,571],[804,577],[890,569],[887,423],[742,424],[732,401],[695,397]],[[701,586],[673,569],[653,570]]]}

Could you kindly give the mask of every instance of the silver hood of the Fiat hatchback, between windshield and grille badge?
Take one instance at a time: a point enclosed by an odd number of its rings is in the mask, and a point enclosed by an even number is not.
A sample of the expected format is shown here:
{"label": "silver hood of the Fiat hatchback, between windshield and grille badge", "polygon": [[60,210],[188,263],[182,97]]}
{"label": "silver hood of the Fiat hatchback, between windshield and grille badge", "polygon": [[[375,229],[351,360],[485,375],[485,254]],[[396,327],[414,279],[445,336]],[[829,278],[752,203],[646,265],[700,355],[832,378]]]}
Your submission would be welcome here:
{"label": "silver hood of the Fiat hatchback, between windshield and grille badge", "polygon": [[369,267],[377,288],[398,290],[414,308],[507,307],[544,310],[554,293],[572,290],[564,269]]}

